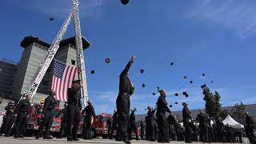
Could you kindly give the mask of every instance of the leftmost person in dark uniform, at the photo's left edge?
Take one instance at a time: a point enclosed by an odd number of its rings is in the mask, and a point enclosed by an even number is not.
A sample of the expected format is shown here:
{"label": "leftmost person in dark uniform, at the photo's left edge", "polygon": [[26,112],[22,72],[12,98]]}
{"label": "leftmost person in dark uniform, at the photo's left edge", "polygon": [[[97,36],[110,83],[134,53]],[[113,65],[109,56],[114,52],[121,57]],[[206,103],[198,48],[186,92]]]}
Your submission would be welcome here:
{"label": "leftmost person in dark uniform, at the photo's left edge", "polygon": [[1,135],[5,134],[5,137],[10,137],[11,127],[15,122],[15,108],[16,106],[14,105],[14,102],[8,102],[8,105],[5,107],[6,115],[4,116],[5,118],[1,127]]}

